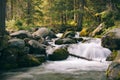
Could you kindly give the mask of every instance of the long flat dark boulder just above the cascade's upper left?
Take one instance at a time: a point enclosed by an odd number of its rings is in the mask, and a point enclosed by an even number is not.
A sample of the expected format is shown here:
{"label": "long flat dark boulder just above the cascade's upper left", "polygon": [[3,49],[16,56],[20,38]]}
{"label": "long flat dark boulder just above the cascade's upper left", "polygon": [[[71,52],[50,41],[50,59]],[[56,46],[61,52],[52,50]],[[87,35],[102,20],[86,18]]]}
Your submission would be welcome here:
{"label": "long flat dark boulder just above the cascade's upper left", "polygon": [[57,39],[55,41],[55,44],[57,44],[57,45],[61,45],[61,44],[75,44],[75,43],[77,43],[77,41],[75,39],[71,39],[71,38]]}

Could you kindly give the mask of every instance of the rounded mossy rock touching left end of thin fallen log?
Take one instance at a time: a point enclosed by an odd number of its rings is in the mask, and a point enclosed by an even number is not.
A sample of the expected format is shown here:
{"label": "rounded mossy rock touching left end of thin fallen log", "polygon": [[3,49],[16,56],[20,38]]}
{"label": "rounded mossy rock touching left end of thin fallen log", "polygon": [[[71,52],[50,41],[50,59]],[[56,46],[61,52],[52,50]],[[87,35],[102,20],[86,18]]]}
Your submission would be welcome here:
{"label": "rounded mossy rock touching left end of thin fallen log", "polygon": [[69,56],[69,52],[66,49],[56,49],[53,54],[49,55],[49,60],[58,61],[58,60],[65,60]]}

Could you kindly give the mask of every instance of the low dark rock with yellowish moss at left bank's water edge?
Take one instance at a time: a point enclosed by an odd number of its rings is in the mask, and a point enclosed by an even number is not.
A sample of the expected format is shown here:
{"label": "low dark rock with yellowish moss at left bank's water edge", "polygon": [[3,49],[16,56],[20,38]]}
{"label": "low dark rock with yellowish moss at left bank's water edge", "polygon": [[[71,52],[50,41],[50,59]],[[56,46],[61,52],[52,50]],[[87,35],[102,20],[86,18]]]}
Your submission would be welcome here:
{"label": "low dark rock with yellowish moss at left bank's water edge", "polygon": [[35,58],[33,55],[27,54],[18,59],[19,67],[32,67],[40,65],[41,62]]}

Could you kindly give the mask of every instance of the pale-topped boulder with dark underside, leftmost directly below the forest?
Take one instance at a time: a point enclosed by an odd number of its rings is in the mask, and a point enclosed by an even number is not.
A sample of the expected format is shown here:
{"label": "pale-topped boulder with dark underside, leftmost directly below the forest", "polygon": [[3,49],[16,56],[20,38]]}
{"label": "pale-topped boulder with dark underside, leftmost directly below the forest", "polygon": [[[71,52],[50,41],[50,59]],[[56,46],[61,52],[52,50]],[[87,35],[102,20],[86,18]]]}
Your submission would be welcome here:
{"label": "pale-topped boulder with dark underside, leftmost directly below the forest", "polygon": [[25,30],[20,30],[20,31],[11,33],[10,36],[20,38],[20,39],[32,38],[32,34],[28,31],[25,31]]}

